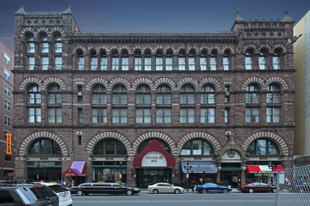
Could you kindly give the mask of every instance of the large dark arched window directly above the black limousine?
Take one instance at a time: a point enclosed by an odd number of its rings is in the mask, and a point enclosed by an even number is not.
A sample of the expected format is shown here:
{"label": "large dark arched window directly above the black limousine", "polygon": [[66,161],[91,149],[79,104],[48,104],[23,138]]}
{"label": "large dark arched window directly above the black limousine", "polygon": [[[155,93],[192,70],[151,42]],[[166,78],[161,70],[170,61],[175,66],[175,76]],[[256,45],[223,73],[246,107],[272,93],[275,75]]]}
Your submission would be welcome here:
{"label": "large dark arched window directly above the black limousine", "polygon": [[93,155],[126,155],[124,144],[116,139],[104,139],[98,142]]}

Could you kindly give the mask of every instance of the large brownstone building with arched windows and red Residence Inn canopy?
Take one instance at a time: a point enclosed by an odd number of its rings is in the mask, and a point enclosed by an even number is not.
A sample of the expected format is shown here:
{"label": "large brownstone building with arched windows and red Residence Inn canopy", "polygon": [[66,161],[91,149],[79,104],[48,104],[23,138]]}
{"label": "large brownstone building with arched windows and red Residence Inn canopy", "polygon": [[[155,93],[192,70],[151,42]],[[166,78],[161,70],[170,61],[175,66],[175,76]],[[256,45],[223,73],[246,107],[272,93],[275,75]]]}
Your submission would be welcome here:
{"label": "large brownstone building with arched windows and red Residence Inn canopy", "polygon": [[[294,20],[217,33],[83,33],[15,13],[16,174],[24,179],[271,180],[292,166]],[[156,141],[153,141],[153,140]]]}

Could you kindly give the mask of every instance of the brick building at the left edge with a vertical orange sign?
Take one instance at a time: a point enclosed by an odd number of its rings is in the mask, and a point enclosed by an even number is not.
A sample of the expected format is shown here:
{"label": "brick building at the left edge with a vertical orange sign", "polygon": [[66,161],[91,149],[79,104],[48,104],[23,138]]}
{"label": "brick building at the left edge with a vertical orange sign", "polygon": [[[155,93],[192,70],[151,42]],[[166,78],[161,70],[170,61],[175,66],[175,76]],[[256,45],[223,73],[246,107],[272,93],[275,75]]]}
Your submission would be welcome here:
{"label": "brick building at the left edge with a vertical orange sign", "polygon": [[[14,175],[14,133],[13,133],[13,53],[0,41],[0,180],[12,180]],[[10,133],[11,144],[6,141]],[[10,148],[9,145],[11,145]],[[12,153],[12,154],[10,154]]]}

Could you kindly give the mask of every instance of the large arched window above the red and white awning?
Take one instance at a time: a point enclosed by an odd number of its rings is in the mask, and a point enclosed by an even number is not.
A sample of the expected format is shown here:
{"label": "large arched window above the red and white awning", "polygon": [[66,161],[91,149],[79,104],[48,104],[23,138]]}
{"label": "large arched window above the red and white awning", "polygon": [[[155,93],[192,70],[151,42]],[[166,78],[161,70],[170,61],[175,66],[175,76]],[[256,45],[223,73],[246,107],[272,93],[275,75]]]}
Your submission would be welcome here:
{"label": "large arched window above the red and white awning", "polygon": [[269,139],[256,139],[247,149],[249,154],[280,154],[278,146]]}

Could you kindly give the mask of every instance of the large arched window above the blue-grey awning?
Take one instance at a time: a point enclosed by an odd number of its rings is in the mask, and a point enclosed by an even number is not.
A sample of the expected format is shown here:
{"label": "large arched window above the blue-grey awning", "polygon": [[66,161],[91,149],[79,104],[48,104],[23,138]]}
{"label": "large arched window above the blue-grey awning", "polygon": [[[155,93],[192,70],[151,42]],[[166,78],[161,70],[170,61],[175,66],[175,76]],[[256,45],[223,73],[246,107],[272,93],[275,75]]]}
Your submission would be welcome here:
{"label": "large arched window above the blue-grey awning", "polygon": [[214,149],[210,143],[202,139],[193,139],[185,143],[181,155],[212,155]]}

